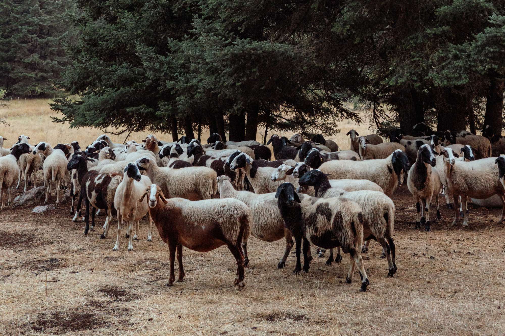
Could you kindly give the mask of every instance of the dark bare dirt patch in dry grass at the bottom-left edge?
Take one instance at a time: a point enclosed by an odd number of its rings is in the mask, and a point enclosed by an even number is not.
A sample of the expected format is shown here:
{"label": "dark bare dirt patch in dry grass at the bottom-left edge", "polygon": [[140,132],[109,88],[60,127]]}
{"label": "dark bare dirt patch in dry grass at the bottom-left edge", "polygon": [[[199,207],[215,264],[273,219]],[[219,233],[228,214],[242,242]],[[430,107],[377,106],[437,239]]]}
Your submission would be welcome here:
{"label": "dark bare dirt patch in dry grass at the bottom-left edge", "polygon": [[68,331],[81,331],[97,329],[106,324],[92,311],[77,308],[66,311],[38,313],[36,319],[29,326],[38,332],[63,333]]}

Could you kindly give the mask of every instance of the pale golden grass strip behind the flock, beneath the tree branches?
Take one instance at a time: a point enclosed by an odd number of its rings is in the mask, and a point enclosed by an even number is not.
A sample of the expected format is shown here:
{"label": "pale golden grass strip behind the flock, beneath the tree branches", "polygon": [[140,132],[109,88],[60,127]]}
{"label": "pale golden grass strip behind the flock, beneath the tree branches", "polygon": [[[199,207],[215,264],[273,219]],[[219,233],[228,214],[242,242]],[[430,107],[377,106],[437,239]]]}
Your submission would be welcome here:
{"label": "pale golden grass strip behind the flock, beneath the tree branches", "polygon": [[[96,128],[79,128],[70,129],[68,124],[53,123],[52,119],[49,117],[61,117],[51,108],[49,108],[49,102],[51,99],[21,99],[13,100],[8,103],[8,107],[0,107],[0,118],[6,120],[11,127],[4,127],[0,125],[0,135],[7,138],[8,141],[4,144],[5,147],[10,147],[15,143],[21,134],[25,134],[30,137],[30,144],[35,145],[40,141],[46,141],[51,145],[56,145],[57,143],[79,141],[81,147],[82,145],[88,145],[92,143],[99,135],[104,134],[103,130]],[[360,134],[370,134],[368,127],[365,125],[356,125],[352,121],[345,121],[340,123],[339,128],[342,132],[334,136],[327,137],[328,139],[335,139],[338,145],[342,149],[349,149],[349,137],[345,134],[348,130],[354,128]],[[259,129],[256,140],[263,143],[263,137],[265,129]],[[269,136],[276,131],[270,131]],[[147,132],[132,133],[129,139],[134,139],[140,141],[145,139],[145,136],[149,134]],[[127,133],[122,135],[111,135],[111,139],[117,143],[123,143],[125,141]],[[182,134],[180,134],[181,136]],[[285,134],[288,137],[292,133]],[[171,134],[157,133],[156,136],[160,140],[171,141]],[[209,137],[209,131],[205,130],[201,139],[204,141]]]}

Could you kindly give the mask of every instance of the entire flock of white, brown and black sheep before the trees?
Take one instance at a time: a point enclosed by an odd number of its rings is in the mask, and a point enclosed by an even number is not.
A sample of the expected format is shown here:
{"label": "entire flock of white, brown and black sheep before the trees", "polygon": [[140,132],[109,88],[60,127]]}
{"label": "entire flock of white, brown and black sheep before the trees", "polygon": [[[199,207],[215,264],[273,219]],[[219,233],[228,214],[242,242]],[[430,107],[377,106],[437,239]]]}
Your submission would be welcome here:
{"label": "entire flock of white, brown and black sheep before the trees", "polygon": [[[371,240],[383,249],[388,276],[397,271],[395,207],[390,196],[399,184],[407,183],[413,195],[416,227],[423,225],[427,231],[431,229],[433,197],[440,218],[439,193],[445,195],[448,206],[449,195],[453,196],[453,225],[459,217],[459,199],[464,226],[468,225],[468,197],[498,195],[505,205],[505,155],[498,156],[505,153],[502,137],[489,134],[489,128],[483,130],[484,136],[466,131],[437,134],[424,123],[413,132],[416,136],[394,130],[390,142],[383,142],[377,135],[360,136],[350,130],[350,150],[341,151],[321,135],[305,141],[299,134],[290,139],[274,134],[268,141],[274,160],[268,146],[257,141],[224,143],[216,133],[205,145],[186,137],[164,142],[154,135],[142,140],[143,144],[117,144],[102,135],[85,150],[76,141],[55,147],[46,142],[32,146],[25,135],[7,149],[3,147],[7,139],[0,137],[2,209],[6,199],[11,203],[16,180],[19,188],[24,175],[25,191],[31,180],[36,187],[36,173],[42,169],[45,203],[56,194],[58,206],[61,190],[69,186],[70,212],[76,221],[84,201],[85,235],[89,229],[94,231],[96,210],[107,214],[100,238],[108,236],[113,216],[117,216],[115,251],[120,248],[125,223],[128,251],[133,250],[139,221],[148,215],[147,240],[152,240],[154,222],[169,246],[168,286],[175,281],[175,256],[178,282],[185,275],[182,246],[207,252],[226,245],[237,262],[234,285],[242,289],[249,236],[267,242],[285,239],[278,268],[285,266],[294,237],[293,272],[309,270],[311,244],[319,248],[320,256],[330,249],[328,265],[341,262],[342,251],[350,256],[346,283],[352,282],[358,267],[360,291],[366,291],[369,279],[361,254],[368,251]],[[503,210],[500,220],[505,221]]]}

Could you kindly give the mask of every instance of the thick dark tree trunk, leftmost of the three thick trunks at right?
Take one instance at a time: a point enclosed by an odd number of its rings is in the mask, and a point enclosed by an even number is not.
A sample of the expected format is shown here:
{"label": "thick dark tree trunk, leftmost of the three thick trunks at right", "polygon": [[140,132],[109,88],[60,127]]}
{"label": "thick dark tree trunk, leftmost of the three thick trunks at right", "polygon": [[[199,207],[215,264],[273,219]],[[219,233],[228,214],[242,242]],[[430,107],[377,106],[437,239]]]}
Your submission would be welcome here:
{"label": "thick dark tree trunk, leftmost of the three thick trunks at right", "polygon": [[414,87],[400,91],[396,101],[403,134],[412,134],[414,125],[424,123],[423,99]]}

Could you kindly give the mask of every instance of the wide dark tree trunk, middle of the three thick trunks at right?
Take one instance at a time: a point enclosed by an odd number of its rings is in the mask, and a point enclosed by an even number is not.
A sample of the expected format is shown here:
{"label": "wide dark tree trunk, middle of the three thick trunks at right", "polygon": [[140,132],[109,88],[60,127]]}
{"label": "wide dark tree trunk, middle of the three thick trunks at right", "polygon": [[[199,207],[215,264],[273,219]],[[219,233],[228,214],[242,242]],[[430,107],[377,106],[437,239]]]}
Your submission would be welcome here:
{"label": "wide dark tree trunk, middle of the three thick trunks at right", "polygon": [[462,131],[466,129],[468,95],[452,88],[439,88],[436,93],[437,131]]}

